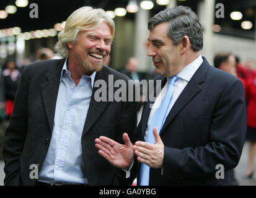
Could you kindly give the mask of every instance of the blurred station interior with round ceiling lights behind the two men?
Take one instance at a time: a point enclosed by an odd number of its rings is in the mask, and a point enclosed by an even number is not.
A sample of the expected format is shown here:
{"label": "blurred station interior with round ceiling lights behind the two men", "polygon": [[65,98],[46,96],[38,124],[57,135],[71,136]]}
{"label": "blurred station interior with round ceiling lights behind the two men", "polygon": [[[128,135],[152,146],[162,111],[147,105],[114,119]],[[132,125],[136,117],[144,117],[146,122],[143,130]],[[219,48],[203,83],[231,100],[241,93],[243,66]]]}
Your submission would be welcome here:
{"label": "blurred station interior with round ceiling lights behind the two men", "polygon": [[[138,59],[138,72],[154,71],[152,60],[146,55],[149,31],[148,19],[157,12],[175,5],[189,6],[198,14],[203,26],[204,46],[201,54],[213,65],[214,54],[232,53],[241,62],[256,64],[256,0],[148,0],[143,9],[142,0],[1,0],[0,1],[0,66],[11,55],[18,67],[37,60],[40,48],[53,49],[68,16],[82,6],[102,8],[112,14],[116,33],[112,43],[110,67],[125,68],[131,56]],[[33,5],[38,6],[38,17]],[[160,5],[164,4],[164,5]],[[19,7],[21,5],[23,7]],[[133,5],[133,12],[127,6]],[[7,9],[9,6],[9,10]],[[11,6],[11,7],[10,7]],[[137,6],[137,7],[136,7]],[[126,13],[118,14],[119,11]],[[6,10],[9,12],[7,13]],[[129,12],[128,12],[129,11]],[[118,16],[119,15],[119,16]],[[123,16],[121,16],[123,15]],[[55,54],[54,58],[60,58]],[[1,69],[0,69],[1,71]],[[245,144],[236,177],[241,185],[256,185],[256,180],[242,176],[247,168],[248,145]],[[4,163],[0,160],[0,186],[3,185]],[[255,167],[256,168],[256,167]]]}

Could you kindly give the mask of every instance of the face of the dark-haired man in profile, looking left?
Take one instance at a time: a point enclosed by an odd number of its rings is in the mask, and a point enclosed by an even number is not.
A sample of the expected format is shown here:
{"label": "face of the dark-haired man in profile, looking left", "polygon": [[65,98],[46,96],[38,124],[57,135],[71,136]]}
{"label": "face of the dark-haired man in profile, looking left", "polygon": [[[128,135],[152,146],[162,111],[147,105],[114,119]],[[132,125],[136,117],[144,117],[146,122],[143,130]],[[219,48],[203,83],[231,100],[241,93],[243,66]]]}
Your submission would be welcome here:
{"label": "face of the dark-haired man in profile, looking left", "polygon": [[148,38],[148,56],[152,56],[157,74],[171,77],[183,69],[182,46],[181,44],[174,46],[167,32],[167,22],[158,24],[151,30]]}

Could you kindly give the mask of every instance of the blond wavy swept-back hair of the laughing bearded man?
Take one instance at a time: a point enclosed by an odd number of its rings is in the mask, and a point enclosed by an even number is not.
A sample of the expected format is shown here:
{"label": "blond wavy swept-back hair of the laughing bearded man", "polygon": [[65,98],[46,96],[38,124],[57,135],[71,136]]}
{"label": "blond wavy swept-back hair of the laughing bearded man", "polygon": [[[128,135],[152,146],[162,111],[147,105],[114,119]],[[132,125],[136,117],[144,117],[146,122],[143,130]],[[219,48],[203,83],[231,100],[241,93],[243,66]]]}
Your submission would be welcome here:
{"label": "blond wavy swept-back hair of the laughing bearded man", "polygon": [[115,35],[115,23],[103,9],[94,9],[90,6],[77,9],[69,15],[64,30],[61,30],[58,34],[59,40],[55,45],[55,51],[64,58],[68,58],[68,43],[77,41],[77,33],[84,30],[94,30],[102,22],[106,22],[109,25],[113,39]]}

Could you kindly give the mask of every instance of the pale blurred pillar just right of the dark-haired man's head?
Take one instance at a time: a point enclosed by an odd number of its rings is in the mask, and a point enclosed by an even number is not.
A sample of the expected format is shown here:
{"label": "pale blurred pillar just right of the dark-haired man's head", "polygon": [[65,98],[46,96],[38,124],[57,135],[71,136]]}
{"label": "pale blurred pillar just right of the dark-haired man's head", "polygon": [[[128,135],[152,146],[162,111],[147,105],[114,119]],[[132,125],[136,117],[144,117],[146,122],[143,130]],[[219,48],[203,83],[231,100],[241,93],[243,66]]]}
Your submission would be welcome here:
{"label": "pale blurred pillar just right of the dark-haired man's head", "polygon": [[215,17],[215,0],[204,0],[198,4],[198,17],[203,26],[202,55],[213,65],[213,25]]}

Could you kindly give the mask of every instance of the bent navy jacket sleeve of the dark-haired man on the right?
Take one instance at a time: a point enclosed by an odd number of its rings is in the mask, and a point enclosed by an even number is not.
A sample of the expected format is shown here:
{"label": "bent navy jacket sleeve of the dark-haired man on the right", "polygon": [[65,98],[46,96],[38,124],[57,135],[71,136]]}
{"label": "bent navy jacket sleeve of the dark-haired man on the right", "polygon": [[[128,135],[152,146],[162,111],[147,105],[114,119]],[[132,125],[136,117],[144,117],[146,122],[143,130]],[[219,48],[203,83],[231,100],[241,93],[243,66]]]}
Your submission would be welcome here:
{"label": "bent navy jacket sleeve of the dark-haired man on the right", "polygon": [[213,176],[216,165],[224,170],[236,167],[246,135],[244,87],[232,80],[225,88],[213,111],[208,144],[184,149],[164,148],[164,175],[174,178]]}

